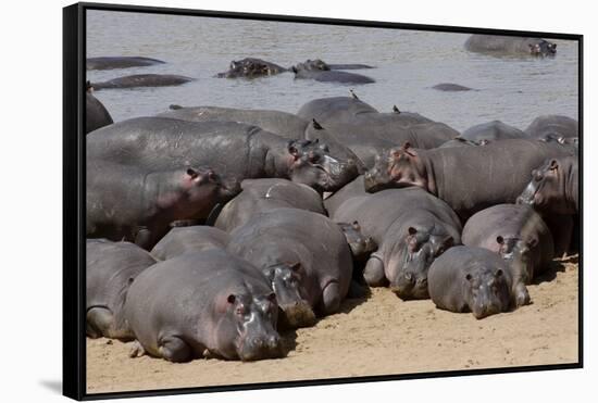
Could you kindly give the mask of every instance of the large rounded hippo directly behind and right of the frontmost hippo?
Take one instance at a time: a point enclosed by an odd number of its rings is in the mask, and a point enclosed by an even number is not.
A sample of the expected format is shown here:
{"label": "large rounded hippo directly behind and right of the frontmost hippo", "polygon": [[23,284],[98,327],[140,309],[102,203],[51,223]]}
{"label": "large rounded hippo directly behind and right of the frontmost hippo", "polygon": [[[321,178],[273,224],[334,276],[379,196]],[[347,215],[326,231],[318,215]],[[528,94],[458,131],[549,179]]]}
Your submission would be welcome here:
{"label": "large rounded hippo directly behind and right of the frontmost hippo", "polygon": [[267,274],[290,327],[336,313],[349,291],[351,251],[322,214],[288,207],[257,214],[231,234],[227,250]]}

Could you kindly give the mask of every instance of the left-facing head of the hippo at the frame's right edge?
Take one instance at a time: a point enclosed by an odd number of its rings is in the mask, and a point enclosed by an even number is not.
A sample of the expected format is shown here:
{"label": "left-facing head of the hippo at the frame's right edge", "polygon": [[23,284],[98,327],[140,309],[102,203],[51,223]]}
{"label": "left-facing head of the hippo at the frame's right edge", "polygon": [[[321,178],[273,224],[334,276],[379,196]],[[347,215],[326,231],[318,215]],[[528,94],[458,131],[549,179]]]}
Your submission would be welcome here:
{"label": "left-facing head of the hippo at the frame's right edge", "polygon": [[557,160],[547,160],[540,167],[532,171],[532,181],[518,198],[518,204],[530,204],[538,209],[550,206],[555,212],[568,214],[569,207],[564,192],[562,167]]}

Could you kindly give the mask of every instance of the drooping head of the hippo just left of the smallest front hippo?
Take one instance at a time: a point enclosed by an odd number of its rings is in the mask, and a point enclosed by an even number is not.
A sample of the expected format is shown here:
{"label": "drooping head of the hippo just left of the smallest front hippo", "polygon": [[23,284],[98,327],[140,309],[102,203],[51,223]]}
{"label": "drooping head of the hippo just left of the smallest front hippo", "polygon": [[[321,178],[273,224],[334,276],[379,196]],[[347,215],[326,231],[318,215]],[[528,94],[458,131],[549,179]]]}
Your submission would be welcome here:
{"label": "drooping head of the hippo just left of the smallest front hippo", "polygon": [[452,244],[452,237],[443,229],[409,227],[406,237],[391,248],[387,259],[386,276],[390,290],[402,300],[428,298],[428,268]]}

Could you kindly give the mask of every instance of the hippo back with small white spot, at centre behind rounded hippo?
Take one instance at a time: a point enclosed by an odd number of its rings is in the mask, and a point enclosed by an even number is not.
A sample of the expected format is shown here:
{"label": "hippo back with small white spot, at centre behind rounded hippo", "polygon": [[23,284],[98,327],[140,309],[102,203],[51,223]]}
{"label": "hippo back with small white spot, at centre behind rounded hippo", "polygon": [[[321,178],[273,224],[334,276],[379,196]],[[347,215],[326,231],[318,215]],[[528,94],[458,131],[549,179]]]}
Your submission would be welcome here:
{"label": "hippo back with small white spot, at centre behind rounded hippo", "polygon": [[226,232],[245,225],[252,216],[277,207],[326,214],[322,197],[309,186],[287,179],[245,179],[241,193],[231,200],[217,216],[214,227]]}

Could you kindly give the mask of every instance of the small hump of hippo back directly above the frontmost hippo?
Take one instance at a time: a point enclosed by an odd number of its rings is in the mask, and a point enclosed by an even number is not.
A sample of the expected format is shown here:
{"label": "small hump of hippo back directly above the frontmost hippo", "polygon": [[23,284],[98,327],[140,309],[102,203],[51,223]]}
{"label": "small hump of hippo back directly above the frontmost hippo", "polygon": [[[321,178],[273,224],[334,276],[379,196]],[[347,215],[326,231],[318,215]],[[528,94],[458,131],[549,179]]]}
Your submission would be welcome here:
{"label": "small hump of hippo back directly above the frontmost hippo", "polygon": [[228,234],[205,225],[175,227],[151,250],[151,255],[165,261],[189,252],[226,249]]}

